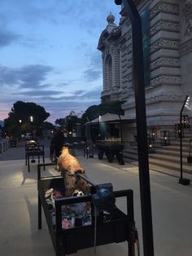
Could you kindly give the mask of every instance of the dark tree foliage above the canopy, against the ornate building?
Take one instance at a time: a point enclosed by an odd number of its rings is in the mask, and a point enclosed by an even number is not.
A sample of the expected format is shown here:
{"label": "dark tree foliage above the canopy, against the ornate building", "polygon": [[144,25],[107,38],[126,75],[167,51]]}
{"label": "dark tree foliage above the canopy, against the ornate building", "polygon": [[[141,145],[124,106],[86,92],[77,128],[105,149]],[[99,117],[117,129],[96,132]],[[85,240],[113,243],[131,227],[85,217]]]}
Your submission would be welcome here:
{"label": "dark tree foliage above the canopy, against the ornate building", "polygon": [[124,115],[124,110],[121,108],[121,104],[123,103],[124,101],[116,100],[104,104],[92,105],[87,108],[82,115],[82,122],[86,123],[87,121],[92,121],[99,115],[102,116],[106,113]]}

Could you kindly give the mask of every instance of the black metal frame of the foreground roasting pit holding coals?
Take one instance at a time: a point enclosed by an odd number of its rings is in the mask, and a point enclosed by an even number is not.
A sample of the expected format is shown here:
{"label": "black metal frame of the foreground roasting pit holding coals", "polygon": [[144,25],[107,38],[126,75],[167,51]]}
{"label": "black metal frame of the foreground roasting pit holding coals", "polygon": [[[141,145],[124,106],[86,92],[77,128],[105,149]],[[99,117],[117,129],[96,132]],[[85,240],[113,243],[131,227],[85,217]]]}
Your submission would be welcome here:
{"label": "black metal frame of the foreground roasting pit holding coals", "polygon": [[[73,196],[55,199],[55,227],[53,226],[50,211],[46,203],[45,191],[55,186],[62,185],[61,176],[41,177],[41,167],[53,166],[53,163],[37,165],[37,190],[38,190],[38,229],[41,229],[41,206],[46,216],[46,223],[49,227],[50,237],[55,248],[56,256],[76,253],[78,249],[85,249],[94,246],[94,205],[92,209],[92,224],[89,226],[62,229],[62,205],[70,205],[85,201],[91,201],[91,196]],[[126,197],[127,214],[116,208],[116,219],[103,223],[101,215],[97,217],[97,243],[105,245],[128,241],[129,256],[134,256],[133,232],[135,222],[133,217],[133,191],[131,189],[114,192],[116,197]],[[86,238],[85,238],[86,237]]]}

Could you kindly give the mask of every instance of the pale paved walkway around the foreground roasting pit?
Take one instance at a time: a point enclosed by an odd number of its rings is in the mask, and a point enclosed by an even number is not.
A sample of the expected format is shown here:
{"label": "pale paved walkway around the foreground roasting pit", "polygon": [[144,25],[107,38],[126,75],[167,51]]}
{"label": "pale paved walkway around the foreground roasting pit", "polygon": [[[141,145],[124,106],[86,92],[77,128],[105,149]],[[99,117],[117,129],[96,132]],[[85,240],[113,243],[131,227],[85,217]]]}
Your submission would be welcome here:
{"label": "pale paved walkway around the foreground roasting pit", "polygon": [[[46,162],[49,162],[49,143],[46,142]],[[114,190],[131,188],[134,192],[134,214],[141,244],[142,217],[137,166],[105,159],[84,158],[76,152],[94,183],[111,182]],[[17,159],[15,159],[17,158]],[[54,168],[46,168],[55,174]],[[43,214],[42,229],[37,229],[37,163],[28,173],[24,147],[9,148],[0,156],[0,256],[53,256],[55,251]],[[192,255],[192,185],[182,186],[178,179],[151,170],[151,202],[155,256]],[[124,210],[124,201],[117,201]],[[86,239],[86,238],[85,238]],[[75,242],[75,241],[74,241]],[[79,250],[72,256],[95,256],[94,249]],[[127,243],[98,246],[97,256],[128,255]]]}

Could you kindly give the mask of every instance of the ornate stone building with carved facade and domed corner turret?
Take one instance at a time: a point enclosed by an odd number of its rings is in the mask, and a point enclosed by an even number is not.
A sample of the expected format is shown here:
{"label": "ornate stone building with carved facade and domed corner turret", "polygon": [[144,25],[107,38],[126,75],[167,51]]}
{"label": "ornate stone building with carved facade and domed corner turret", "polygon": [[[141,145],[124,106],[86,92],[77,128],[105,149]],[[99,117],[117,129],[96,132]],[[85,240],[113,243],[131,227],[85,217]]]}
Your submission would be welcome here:
{"label": "ornate stone building with carved facade and domed corner turret", "polygon": [[[185,95],[192,95],[192,0],[135,1],[142,17],[147,126],[173,130]],[[124,132],[135,135],[132,75],[132,27],[122,4],[120,23],[107,16],[98,50],[103,58],[102,102],[121,99],[128,123]],[[192,114],[190,114],[192,117]],[[127,135],[126,135],[127,137]]]}

